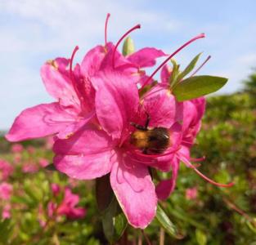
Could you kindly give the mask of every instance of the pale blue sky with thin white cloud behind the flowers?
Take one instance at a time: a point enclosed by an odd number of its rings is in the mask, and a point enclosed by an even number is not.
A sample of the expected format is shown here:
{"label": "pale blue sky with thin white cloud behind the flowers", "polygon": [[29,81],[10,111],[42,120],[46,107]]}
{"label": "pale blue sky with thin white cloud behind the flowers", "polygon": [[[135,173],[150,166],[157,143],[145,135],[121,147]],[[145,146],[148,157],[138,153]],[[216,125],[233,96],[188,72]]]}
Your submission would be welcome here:
{"label": "pale blue sky with thin white cloud behind the flowers", "polygon": [[199,33],[206,38],[181,51],[183,67],[200,51],[212,59],[201,74],[226,76],[222,93],[238,91],[241,80],[256,67],[256,1],[0,1],[0,130],[11,126],[22,109],[52,101],[40,78],[46,60],[70,57],[76,61],[104,41],[104,22],[110,12],[109,39],[137,23],[136,47],[158,47],[170,53]]}

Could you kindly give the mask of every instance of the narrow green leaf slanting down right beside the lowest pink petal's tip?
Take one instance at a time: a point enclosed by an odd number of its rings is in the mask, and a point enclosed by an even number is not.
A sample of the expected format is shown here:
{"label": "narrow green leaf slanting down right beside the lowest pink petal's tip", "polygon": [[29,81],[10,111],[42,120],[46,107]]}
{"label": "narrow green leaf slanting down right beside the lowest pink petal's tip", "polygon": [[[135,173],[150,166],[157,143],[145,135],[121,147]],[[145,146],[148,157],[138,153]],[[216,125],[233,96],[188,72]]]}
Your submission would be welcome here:
{"label": "narrow green leaf slanting down right beside the lowest pink petal's tip", "polygon": [[183,238],[182,234],[178,233],[177,227],[173,222],[168,218],[167,214],[164,212],[162,207],[157,206],[156,210],[156,219],[159,221],[159,224],[165,229],[165,231],[173,238],[181,239]]}

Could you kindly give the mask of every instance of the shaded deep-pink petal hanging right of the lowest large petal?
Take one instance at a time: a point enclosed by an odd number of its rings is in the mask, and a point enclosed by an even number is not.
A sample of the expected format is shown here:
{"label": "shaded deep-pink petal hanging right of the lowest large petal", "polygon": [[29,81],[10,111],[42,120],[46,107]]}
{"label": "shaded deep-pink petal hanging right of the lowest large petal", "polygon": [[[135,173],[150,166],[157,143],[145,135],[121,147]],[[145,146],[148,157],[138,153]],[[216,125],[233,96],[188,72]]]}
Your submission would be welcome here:
{"label": "shaded deep-pink petal hanging right of the lowest large petal", "polygon": [[160,200],[165,200],[173,192],[177,180],[177,171],[179,168],[179,160],[173,159],[172,163],[172,177],[169,180],[161,180],[156,186],[155,192]]}

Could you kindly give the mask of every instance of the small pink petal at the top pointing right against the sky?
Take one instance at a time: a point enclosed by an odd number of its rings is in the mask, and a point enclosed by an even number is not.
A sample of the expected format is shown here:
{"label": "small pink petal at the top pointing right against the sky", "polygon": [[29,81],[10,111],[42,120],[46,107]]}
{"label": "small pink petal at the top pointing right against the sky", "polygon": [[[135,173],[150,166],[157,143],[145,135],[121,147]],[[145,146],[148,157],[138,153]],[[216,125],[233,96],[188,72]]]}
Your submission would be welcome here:
{"label": "small pink petal at the top pointing right against the sky", "polygon": [[149,67],[155,65],[155,59],[166,56],[163,51],[154,47],[145,47],[128,56],[128,60],[138,67]]}

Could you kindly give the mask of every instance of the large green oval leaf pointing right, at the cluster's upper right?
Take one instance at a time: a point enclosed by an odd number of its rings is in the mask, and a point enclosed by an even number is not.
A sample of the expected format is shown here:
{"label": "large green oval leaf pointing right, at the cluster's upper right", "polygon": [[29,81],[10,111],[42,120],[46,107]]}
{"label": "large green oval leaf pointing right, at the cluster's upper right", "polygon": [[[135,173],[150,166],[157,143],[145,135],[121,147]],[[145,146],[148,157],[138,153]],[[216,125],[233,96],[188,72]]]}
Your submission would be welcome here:
{"label": "large green oval leaf pointing right, at the cluster's upper right", "polygon": [[227,82],[227,78],[195,76],[186,78],[173,88],[178,101],[191,100],[218,91]]}

